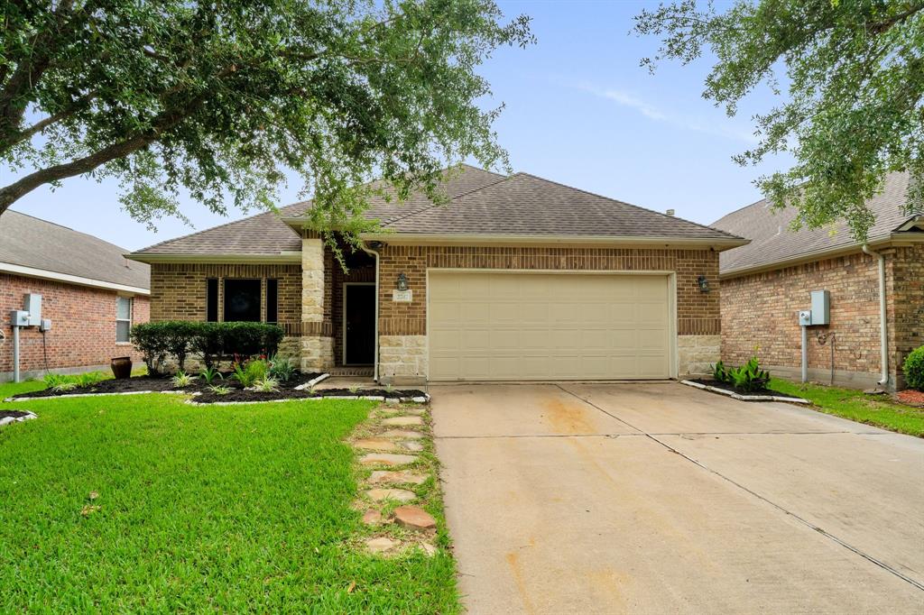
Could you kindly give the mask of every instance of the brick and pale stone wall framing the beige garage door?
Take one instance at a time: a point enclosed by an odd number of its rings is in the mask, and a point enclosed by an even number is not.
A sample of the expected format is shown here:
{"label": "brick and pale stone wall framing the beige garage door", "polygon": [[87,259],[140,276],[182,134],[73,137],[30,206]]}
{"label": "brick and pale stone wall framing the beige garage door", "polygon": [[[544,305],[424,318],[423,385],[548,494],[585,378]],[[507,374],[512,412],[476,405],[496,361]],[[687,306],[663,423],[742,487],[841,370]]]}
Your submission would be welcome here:
{"label": "brick and pale stone wall framing the beige garage door", "polygon": [[[702,373],[703,366],[708,368],[719,358],[719,257],[711,249],[386,245],[381,250],[379,266],[379,360],[383,379],[419,379],[426,374],[426,275],[428,269],[436,268],[675,271],[680,375]],[[395,279],[401,272],[407,275],[413,291],[413,301],[409,303],[392,300]],[[699,291],[699,275],[711,282],[710,293]]]}

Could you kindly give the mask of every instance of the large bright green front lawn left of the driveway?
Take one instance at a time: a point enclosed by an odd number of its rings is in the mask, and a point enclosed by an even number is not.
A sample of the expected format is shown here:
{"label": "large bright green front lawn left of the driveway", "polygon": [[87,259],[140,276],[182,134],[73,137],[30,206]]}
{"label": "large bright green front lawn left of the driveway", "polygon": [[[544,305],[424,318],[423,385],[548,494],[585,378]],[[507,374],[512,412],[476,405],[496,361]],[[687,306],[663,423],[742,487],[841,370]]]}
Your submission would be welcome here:
{"label": "large bright green front lawn left of the driveway", "polygon": [[458,610],[448,555],[356,548],[371,403],[182,401],[0,404],[39,415],[0,428],[0,612]]}

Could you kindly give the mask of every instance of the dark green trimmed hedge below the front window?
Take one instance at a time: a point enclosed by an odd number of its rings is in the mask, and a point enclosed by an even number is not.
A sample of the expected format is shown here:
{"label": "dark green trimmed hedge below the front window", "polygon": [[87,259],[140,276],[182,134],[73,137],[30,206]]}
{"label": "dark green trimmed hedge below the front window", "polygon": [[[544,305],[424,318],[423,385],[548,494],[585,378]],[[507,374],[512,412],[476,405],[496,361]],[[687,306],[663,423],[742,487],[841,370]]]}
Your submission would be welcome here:
{"label": "dark green trimmed hedge below the front window", "polygon": [[190,322],[164,320],[131,328],[131,342],[152,374],[161,372],[168,355],[184,369],[189,353],[200,353],[206,367],[219,356],[274,355],[283,339],[278,325],[265,322]]}

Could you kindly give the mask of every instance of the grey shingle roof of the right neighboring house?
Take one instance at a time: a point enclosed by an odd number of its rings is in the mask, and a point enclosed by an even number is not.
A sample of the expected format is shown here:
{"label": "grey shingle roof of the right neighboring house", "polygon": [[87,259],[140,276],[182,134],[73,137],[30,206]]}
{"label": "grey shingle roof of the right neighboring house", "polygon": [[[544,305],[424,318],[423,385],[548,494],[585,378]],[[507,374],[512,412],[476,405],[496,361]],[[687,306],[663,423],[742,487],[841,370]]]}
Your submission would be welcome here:
{"label": "grey shingle roof of the right neighboring house", "polygon": [[[916,217],[904,211],[907,188],[908,174],[888,175],[881,192],[869,199],[867,205],[876,217],[876,222],[869,229],[869,244],[907,233],[901,230],[903,225]],[[736,247],[719,256],[720,272],[725,275],[766,269],[776,264],[782,266],[816,255],[822,258],[825,254],[860,247],[843,222],[833,227],[793,231],[790,225],[796,214],[795,208],[774,211],[764,199],[713,223],[716,228],[751,240],[747,246]]]}

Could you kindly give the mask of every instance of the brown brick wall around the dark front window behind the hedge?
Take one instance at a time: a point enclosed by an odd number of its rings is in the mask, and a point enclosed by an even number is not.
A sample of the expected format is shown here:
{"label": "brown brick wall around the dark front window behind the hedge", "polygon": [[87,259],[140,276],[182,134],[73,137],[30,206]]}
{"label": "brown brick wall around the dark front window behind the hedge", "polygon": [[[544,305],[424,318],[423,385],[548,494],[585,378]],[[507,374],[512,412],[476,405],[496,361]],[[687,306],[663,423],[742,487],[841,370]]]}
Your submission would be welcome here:
{"label": "brown brick wall around the dark front window behind the hedge", "polygon": [[[200,263],[154,263],[151,265],[151,319],[205,320],[205,285],[218,279],[218,319],[223,319],[225,278],[261,280],[261,296],[266,296],[266,280],[279,280],[278,319],[286,334],[301,329],[301,265],[221,265]],[[261,300],[261,319],[266,306]]]}

